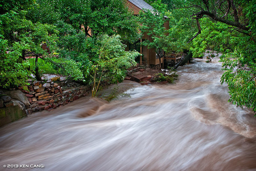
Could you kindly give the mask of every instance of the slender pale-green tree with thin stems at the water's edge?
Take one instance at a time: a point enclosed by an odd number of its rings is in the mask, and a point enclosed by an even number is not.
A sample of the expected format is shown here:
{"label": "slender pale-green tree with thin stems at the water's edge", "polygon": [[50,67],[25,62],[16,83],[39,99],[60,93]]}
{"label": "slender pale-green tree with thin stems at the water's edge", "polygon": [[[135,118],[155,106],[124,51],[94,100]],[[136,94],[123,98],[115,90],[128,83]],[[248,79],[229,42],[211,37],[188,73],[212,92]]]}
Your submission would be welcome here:
{"label": "slender pale-green tree with thin stems at the water's edge", "polygon": [[112,83],[122,82],[126,75],[125,69],[136,64],[135,57],[140,53],[124,51],[126,45],[120,39],[120,35],[104,34],[98,37],[97,45],[92,49],[98,56],[92,65],[92,96],[96,95],[102,78],[109,78]]}

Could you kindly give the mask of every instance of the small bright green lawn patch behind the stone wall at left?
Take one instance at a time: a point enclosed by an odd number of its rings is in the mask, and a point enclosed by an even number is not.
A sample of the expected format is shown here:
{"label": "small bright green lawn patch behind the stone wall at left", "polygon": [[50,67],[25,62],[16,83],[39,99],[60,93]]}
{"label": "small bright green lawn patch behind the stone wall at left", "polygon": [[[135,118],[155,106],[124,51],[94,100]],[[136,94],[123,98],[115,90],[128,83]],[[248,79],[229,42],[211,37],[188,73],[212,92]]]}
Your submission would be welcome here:
{"label": "small bright green lawn patch behind the stone wall at left", "polygon": [[[36,60],[35,58],[28,59],[30,63],[30,68],[35,68],[35,60]],[[58,74],[58,72],[52,68],[51,63],[45,62],[41,58],[38,58],[38,64],[39,64],[39,72],[41,74]]]}

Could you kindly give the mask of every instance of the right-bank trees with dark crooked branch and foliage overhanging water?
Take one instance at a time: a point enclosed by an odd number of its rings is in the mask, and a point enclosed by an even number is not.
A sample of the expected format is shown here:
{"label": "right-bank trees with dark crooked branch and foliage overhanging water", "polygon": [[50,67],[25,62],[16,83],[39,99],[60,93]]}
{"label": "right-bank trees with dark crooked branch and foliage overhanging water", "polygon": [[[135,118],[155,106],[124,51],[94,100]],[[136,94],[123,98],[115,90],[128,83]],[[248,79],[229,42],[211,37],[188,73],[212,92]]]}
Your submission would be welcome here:
{"label": "right-bank trees with dark crooked branch and foliage overhanging water", "polygon": [[224,53],[220,59],[225,71],[221,83],[228,83],[229,101],[239,107],[250,107],[254,112],[255,7],[255,0],[193,0],[176,6],[194,11],[190,14],[198,28],[198,32],[190,39],[193,41],[194,53],[197,52],[194,55],[202,55],[206,48]]}

